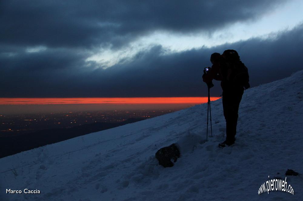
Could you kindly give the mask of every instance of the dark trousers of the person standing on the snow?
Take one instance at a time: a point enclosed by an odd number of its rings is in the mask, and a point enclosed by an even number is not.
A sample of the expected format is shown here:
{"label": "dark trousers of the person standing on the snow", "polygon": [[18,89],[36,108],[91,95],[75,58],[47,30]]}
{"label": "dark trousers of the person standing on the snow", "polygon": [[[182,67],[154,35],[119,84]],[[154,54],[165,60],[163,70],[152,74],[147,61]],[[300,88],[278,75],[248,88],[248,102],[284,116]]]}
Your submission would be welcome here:
{"label": "dark trousers of the person standing on the snow", "polygon": [[226,121],[226,140],[235,142],[237,132],[238,110],[244,90],[223,90],[222,104]]}

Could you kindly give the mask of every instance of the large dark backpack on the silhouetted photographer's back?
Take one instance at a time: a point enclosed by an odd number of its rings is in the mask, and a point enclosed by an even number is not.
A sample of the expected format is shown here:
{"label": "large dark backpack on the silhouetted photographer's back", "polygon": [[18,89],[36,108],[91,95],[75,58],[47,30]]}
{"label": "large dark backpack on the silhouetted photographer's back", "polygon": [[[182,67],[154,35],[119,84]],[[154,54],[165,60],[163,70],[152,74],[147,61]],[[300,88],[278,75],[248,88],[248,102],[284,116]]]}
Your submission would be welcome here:
{"label": "large dark backpack on the silhouetted photographer's back", "polygon": [[230,81],[235,87],[248,89],[250,87],[248,69],[240,61],[237,51],[228,49],[223,52],[223,55],[225,56],[224,66],[227,68],[225,79]]}

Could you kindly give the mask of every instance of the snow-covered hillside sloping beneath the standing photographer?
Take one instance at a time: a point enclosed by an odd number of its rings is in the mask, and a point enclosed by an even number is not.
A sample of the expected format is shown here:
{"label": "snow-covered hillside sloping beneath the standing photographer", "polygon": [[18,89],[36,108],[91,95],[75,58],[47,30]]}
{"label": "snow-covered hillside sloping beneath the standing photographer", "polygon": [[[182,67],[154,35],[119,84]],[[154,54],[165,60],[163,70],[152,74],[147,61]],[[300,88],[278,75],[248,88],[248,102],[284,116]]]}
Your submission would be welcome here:
{"label": "snow-covered hillside sloping beneath the standing photographer", "polygon": [[[303,71],[244,92],[236,143],[225,139],[221,99],[0,159],[0,200],[302,200],[303,178],[287,176],[294,195],[258,194],[268,179],[303,173]],[[155,152],[177,142],[181,158],[163,168]],[[279,174],[278,174],[279,173]],[[269,178],[268,178],[269,176]],[[11,190],[40,194],[6,194]]]}

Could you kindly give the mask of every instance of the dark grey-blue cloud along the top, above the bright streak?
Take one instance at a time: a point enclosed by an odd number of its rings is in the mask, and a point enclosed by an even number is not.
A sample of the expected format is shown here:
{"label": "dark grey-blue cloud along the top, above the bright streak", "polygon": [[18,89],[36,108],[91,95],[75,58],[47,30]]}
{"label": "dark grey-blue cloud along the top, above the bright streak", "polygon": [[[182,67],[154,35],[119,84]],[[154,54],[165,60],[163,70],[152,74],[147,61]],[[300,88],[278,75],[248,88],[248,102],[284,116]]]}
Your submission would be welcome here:
{"label": "dark grey-blue cloud along the top, above the bright streak", "polygon": [[154,30],[207,33],[282,1],[1,1],[1,43],[118,48]]}

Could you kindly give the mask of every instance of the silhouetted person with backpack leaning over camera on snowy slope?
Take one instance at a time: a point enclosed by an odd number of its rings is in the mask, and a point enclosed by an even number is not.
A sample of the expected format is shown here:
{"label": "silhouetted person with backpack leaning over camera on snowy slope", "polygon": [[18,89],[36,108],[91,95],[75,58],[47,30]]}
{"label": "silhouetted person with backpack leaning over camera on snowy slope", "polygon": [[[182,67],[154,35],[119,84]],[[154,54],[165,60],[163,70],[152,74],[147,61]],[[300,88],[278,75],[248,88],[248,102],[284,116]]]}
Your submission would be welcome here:
{"label": "silhouetted person with backpack leaning over camera on snowy slope", "polygon": [[[235,143],[238,121],[238,109],[244,89],[248,89],[248,69],[241,62],[237,51],[228,49],[223,52],[211,54],[211,68],[205,68],[202,76],[208,90],[213,87],[212,80],[221,81],[223,113],[226,120],[226,140],[219,147]],[[209,103],[210,105],[210,103]]]}

